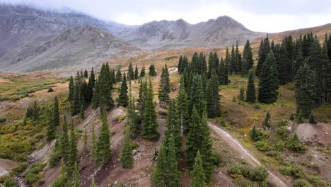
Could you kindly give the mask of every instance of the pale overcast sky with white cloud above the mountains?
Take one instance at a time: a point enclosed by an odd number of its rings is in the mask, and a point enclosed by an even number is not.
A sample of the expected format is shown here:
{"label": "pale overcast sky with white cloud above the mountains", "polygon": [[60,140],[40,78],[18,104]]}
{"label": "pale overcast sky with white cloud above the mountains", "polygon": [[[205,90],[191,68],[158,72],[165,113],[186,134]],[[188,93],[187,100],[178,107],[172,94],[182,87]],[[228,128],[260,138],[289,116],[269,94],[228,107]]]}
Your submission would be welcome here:
{"label": "pale overcast sky with white cloud above the mountains", "polygon": [[274,33],[331,23],[331,0],[0,0],[0,3],[80,11],[129,25],[179,18],[198,23],[226,15],[250,30]]}

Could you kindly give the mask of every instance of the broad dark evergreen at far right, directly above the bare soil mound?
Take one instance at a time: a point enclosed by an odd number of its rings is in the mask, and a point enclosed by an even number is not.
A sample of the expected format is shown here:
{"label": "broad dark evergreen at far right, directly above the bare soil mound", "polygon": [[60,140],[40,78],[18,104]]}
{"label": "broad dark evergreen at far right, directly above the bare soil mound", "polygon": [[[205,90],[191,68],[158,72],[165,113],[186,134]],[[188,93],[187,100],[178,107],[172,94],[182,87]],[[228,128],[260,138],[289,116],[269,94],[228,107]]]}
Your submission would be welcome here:
{"label": "broad dark evergreen at far right, directly above the bare soil mound", "polygon": [[308,118],[313,108],[316,106],[318,99],[316,90],[316,75],[315,72],[310,70],[305,61],[299,67],[295,78],[295,96],[296,108],[301,111],[303,117]]}

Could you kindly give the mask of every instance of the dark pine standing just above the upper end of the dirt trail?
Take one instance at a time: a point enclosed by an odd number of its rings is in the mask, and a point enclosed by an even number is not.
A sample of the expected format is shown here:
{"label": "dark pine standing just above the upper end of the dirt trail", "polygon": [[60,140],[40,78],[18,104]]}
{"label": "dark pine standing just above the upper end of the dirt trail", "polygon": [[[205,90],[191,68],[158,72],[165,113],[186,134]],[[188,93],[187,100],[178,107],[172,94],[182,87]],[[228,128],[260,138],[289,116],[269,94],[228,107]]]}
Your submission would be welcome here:
{"label": "dark pine standing just above the upper end of the dirt trail", "polygon": [[211,73],[211,77],[207,83],[207,113],[209,118],[221,116],[221,108],[219,106],[219,81],[215,72]]}

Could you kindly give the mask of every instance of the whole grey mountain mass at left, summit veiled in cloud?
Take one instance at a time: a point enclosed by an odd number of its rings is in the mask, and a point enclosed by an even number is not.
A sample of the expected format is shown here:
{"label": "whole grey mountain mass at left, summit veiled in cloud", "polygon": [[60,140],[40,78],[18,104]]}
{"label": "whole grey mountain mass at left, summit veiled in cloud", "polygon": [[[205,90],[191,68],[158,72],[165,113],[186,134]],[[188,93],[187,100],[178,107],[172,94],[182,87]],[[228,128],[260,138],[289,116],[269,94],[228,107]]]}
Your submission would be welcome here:
{"label": "whole grey mountain mass at left, summit veiled in cloud", "polygon": [[133,28],[82,13],[2,4],[0,69],[11,72],[64,69],[88,60],[135,55],[141,51],[139,48],[117,38]]}

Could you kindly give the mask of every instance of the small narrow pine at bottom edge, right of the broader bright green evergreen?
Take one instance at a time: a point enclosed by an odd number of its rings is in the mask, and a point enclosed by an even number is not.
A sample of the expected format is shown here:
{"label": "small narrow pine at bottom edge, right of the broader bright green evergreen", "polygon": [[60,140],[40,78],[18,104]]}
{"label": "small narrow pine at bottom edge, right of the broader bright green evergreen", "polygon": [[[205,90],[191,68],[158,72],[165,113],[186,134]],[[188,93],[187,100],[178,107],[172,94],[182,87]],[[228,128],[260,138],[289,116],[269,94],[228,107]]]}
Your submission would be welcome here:
{"label": "small narrow pine at bottom edge, right of the broader bright green evergreen", "polygon": [[197,152],[197,156],[194,159],[194,166],[191,175],[192,179],[190,183],[192,187],[206,186],[206,183],[204,182],[204,168],[202,167],[202,158],[199,151]]}

